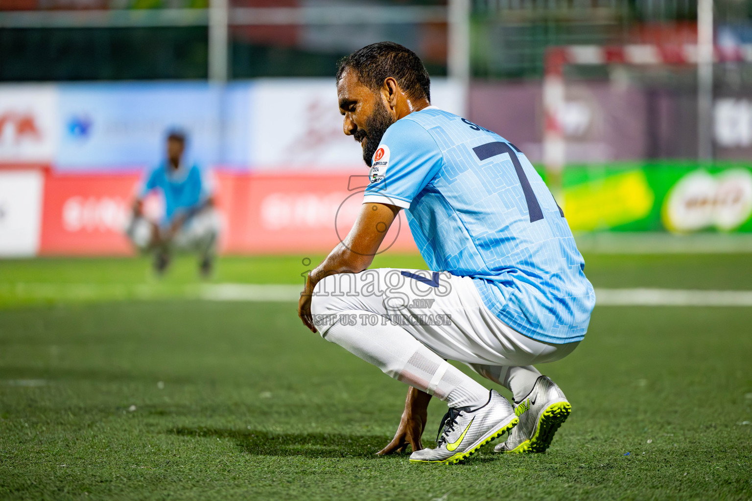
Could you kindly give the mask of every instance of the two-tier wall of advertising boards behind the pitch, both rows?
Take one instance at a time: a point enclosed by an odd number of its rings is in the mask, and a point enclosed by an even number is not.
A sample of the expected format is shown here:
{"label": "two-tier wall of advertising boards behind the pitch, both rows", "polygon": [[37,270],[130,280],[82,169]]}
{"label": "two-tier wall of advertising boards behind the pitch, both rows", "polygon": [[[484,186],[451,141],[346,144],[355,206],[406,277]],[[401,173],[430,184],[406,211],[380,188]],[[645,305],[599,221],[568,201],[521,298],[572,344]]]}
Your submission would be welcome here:
{"label": "two-tier wall of advertising boards behind the pitch, both rows", "polygon": [[[436,104],[461,113],[458,95],[450,81],[432,86]],[[717,158],[744,161],[700,168],[629,161],[694,155],[690,93],[578,82],[565,97],[559,204],[573,231],[752,232],[752,98],[729,92],[715,105]],[[538,83],[474,83],[467,112],[541,160]],[[221,92],[207,83],[0,85],[0,256],[132,253],[122,228],[133,189],[173,126],[190,133],[192,161],[220,166],[223,252],[326,252],[347,233],[362,195],[350,174],[365,169],[342,134],[331,79],[241,81]],[[150,207],[159,213],[159,200]],[[401,221],[392,249],[414,251]]]}

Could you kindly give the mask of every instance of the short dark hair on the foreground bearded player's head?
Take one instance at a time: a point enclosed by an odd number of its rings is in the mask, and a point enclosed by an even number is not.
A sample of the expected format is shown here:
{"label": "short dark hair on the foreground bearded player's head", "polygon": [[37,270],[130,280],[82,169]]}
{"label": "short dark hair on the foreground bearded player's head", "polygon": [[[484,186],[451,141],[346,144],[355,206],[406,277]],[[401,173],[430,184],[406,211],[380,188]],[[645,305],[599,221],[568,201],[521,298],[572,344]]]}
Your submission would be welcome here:
{"label": "short dark hair on the foreground bearded player's head", "polygon": [[400,44],[378,42],[342,58],[337,70],[337,83],[347,68],[353,68],[358,80],[371,90],[381,89],[384,80],[393,77],[409,97],[431,101],[431,78],[423,61]]}

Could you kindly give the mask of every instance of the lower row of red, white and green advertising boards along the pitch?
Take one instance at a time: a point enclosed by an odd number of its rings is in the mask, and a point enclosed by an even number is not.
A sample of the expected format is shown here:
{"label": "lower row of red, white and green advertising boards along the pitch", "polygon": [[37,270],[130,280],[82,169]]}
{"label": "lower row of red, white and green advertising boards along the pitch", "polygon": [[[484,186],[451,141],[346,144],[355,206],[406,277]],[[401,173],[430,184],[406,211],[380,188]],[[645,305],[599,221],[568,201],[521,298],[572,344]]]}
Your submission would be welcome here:
{"label": "lower row of red, white and green advertising boards along the pitch", "polygon": [[[220,250],[327,252],[362,204],[363,174],[218,169]],[[43,165],[0,170],[0,255],[132,255],[123,234],[141,174],[67,174]],[[726,163],[622,162],[570,166],[559,201],[575,233],[752,233],[752,168]],[[147,213],[159,219],[158,196]],[[384,240],[417,252],[404,214]]]}

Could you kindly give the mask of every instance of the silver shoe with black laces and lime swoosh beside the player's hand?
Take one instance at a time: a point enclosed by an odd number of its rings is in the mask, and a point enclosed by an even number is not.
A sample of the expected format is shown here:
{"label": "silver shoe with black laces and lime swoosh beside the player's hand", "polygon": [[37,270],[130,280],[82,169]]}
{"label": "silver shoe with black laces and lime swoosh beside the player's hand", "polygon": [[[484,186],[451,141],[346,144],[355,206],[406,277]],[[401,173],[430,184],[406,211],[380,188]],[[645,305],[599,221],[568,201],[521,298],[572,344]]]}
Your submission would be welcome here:
{"label": "silver shoe with black laces and lime swoosh beside the player's hand", "polygon": [[435,449],[414,451],[411,463],[461,463],[520,421],[511,404],[491,390],[488,402],[478,409],[449,409],[438,427]]}

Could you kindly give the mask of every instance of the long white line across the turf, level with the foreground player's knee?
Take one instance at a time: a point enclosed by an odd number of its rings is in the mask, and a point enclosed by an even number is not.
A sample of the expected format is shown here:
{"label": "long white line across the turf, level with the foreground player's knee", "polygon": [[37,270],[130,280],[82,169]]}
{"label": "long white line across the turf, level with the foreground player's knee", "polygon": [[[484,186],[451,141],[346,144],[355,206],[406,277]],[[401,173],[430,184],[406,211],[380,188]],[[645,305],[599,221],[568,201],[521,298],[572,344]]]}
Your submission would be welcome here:
{"label": "long white line across the turf, level with the foreground player's knee", "polygon": [[[295,302],[301,285],[221,283],[162,284],[0,284],[3,299],[126,300],[183,298],[210,301]],[[596,288],[598,306],[752,306],[752,291],[669,288]]]}

